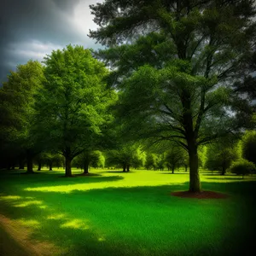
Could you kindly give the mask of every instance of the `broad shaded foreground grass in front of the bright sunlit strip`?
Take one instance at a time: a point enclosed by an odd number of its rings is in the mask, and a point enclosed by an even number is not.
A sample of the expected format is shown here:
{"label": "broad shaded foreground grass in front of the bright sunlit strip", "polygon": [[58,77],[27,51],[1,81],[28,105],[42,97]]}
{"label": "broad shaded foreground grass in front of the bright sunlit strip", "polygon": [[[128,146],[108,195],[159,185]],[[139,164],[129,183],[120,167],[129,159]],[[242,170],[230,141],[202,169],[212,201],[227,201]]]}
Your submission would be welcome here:
{"label": "broad shaded foreground grass in front of the bright sunlit strip", "polygon": [[[1,212],[3,209],[3,214],[11,219],[37,220],[40,227],[32,231],[31,239],[54,241],[56,246],[66,247],[67,253],[61,255],[247,255],[243,249],[248,248],[249,240],[255,237],[252,234],[256,224],[256,182],[203,182],[202,188],[232,196],[227,201],[200,201],[172,196],[173,191],[189,189],[189,183],[181,183],[86,192],[74,190],[70,194],[20,189],[16,194],[21,196],[20,199],[0,201],[0,204]],[[39,208],[40,205],[15,207],[17,203],[26,201],[27,196],[43,201],[46,208]],[[219,212],[226,214],[226,211],[228,213],[222,220]],[[168,222],[169,219],[172,221]],[[212,219],[213,225],[209,219]],[[175,224],[166,226],[166,222]],[[162,230],[158,227],[161,224]],[[210,235],[196,230],[197,224],[201,224],[204,232],[218,230],[223,225],[224,231],[216,233],[225,233],[221,234],[218,244],[212,244],[211,239],[208,244],[201,244],[201,241],[207,242]],[[207,224],[209,226],[205,229]],[[148,229],[152,233],[148,233]],[[156,231],[158,229],[163,233]],[[131,230],[132,233],[129,233]],[[182,236],[178,236],[175,244],[173,237],[178,232]],[[185,250],[182,249],[184,243]]]}

